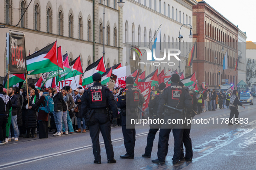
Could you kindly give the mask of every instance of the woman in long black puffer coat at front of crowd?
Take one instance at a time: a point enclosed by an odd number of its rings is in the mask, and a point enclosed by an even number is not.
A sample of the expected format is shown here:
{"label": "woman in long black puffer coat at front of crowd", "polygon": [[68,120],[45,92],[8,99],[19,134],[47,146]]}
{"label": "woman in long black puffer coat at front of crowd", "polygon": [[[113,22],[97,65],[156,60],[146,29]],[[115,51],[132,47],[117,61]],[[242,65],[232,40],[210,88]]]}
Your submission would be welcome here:
{"label": "woman in long black puffer coat at front of crowd", "polygon": [[[29,133],[31,130],[32,138],[35,138],[35,130],[37,127],[36,124],[36,110],[38,98],[36,97],[36,91],[31,89],[29,95],[26,97],[23,107],[26,107],[26,116],[25,116],[25,127],[27,129],[27,135],[24,138],[29,138]],[[29,106],[26,105],[29,103]]]}

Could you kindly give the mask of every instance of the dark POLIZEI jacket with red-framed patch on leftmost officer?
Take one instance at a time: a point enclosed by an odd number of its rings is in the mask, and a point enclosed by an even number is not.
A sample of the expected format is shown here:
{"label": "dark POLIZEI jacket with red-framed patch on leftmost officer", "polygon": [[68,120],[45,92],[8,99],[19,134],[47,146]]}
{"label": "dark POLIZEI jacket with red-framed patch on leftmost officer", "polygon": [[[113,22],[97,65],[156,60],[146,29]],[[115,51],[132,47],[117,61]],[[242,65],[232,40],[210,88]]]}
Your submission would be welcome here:
{"label": "dark POLIZEI jacket with red-framed patch on leftmost officer", "polygon": [[106,110],[106,108],[110,106],[113,111],[113,118],[117,118],[118,110],[113,93],[109,88],[101,85],[100,82],[94,82],[91,87],[84,90],[81,103],[81,110],[84,115],[87,113],[88,109]]}

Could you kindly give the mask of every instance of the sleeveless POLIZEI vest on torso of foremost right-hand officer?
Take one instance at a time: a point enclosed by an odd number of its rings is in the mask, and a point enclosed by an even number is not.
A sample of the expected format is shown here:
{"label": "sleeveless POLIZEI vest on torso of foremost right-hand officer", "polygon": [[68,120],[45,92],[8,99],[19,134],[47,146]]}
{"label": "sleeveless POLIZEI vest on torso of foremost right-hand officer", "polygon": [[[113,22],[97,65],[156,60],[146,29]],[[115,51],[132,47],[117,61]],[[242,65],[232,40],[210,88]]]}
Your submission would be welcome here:
{"label": "sleeveless POLIZEI vest on torso of foremost right-hand officer", "polygon": [[171,86],[166,88],[163,93],[168,90],[168,101],[167,104],[172,107],[177,107],[178,109],[183,109],[184,107],[184,95],[185,89],[182,88],[178,83],[172,83]]}

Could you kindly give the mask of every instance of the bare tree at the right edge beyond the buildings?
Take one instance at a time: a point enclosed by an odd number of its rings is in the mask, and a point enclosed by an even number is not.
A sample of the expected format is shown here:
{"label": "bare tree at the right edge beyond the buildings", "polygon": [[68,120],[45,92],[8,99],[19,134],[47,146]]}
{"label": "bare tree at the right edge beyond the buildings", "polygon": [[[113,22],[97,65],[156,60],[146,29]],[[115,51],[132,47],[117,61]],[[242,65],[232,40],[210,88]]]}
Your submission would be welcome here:
{"label": "bare tree at the right edge beyond the buildings", "polygon": [[256,83],[256,63],[254,59],[248,59],[246,64],[246,83],[250,86],[251,83]]}

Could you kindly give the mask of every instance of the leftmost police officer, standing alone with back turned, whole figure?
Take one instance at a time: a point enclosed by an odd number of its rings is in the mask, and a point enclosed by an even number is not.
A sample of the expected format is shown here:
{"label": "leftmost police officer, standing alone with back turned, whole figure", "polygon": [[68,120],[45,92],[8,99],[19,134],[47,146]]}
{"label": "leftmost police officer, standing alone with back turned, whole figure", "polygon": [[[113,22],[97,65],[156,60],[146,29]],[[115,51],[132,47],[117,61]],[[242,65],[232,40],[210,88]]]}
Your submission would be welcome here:
{"label": "leftmost police officer, standing alone with back turned, whole figure", "polygon": [[113,146],[110,136],[110,120],[107,115],[107,107],[111,107],[113,118],[117,119],[117,105],[112,91],[106,86],[101,85],[101,76],[94,73],[92,76],[94,84],[84,90],[82,95],[81,109],[84,112],[85,121],[90,128],[90,136],[94,154],[94,164],[101,164],[100,157],[100,132],[104,139],[107,152],[107,163],[116,163],[114,159]]}

